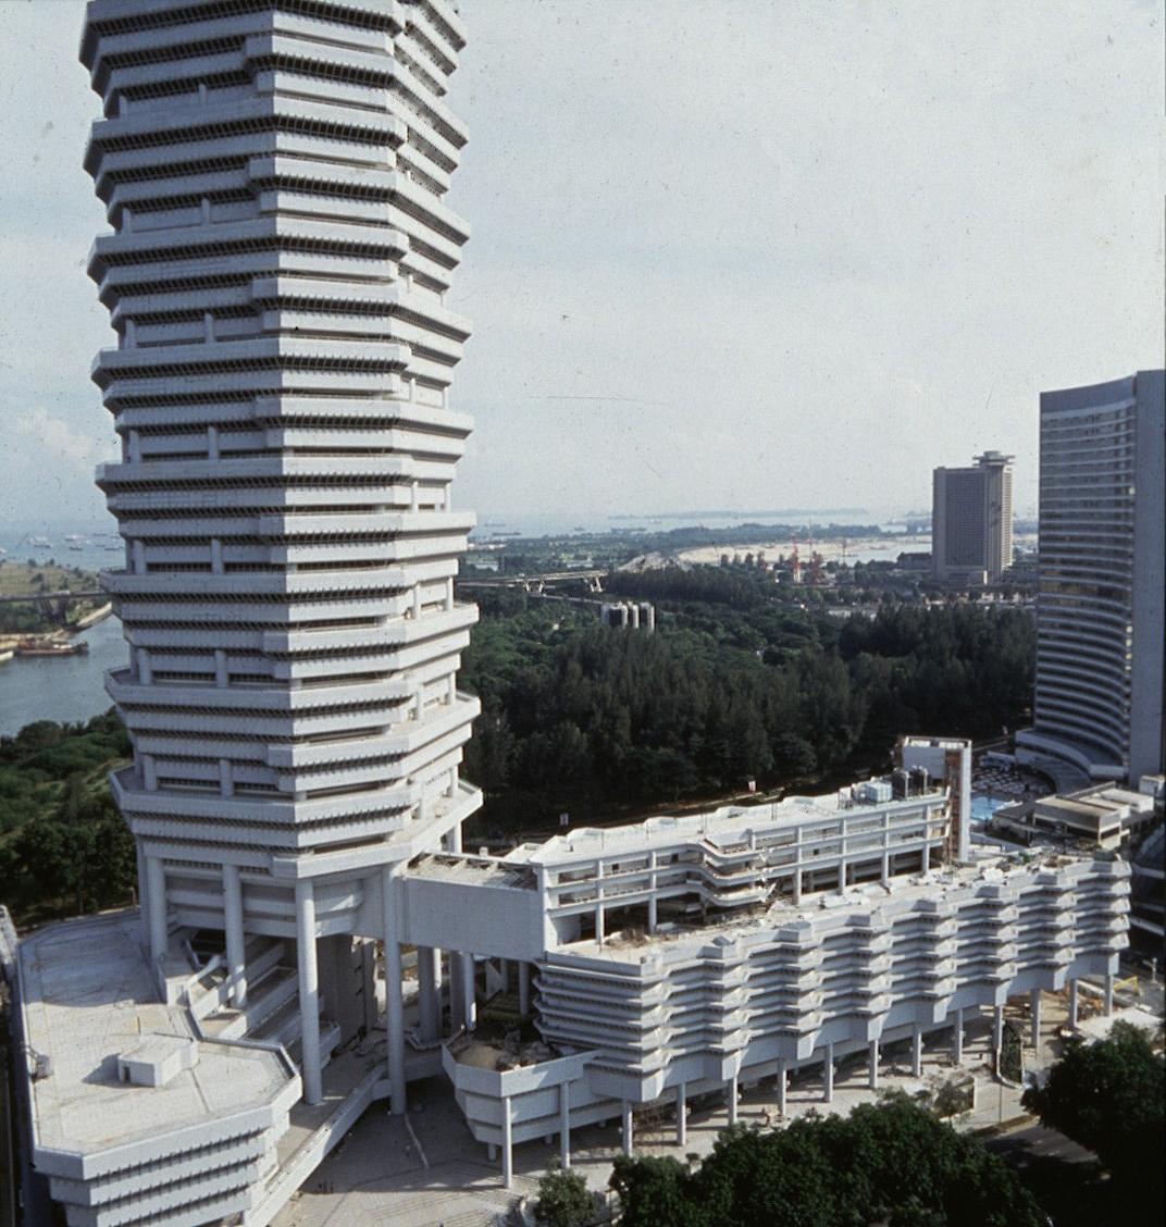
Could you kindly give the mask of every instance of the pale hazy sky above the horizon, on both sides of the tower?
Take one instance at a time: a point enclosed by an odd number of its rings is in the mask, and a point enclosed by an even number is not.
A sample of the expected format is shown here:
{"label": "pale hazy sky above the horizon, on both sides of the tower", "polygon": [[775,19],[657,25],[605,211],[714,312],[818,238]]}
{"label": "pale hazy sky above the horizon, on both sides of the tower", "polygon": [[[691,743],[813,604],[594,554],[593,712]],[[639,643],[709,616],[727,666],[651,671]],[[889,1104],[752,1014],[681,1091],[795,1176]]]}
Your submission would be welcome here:
{"label": "pale hazy sky above the horizon, on both sides of the tower", "polygon": [[[1159,0],[463,0],[453,405],[484,514],[930,503],[1162,362]],[[0,0],[0,524],[113,432],[81,5]]]}

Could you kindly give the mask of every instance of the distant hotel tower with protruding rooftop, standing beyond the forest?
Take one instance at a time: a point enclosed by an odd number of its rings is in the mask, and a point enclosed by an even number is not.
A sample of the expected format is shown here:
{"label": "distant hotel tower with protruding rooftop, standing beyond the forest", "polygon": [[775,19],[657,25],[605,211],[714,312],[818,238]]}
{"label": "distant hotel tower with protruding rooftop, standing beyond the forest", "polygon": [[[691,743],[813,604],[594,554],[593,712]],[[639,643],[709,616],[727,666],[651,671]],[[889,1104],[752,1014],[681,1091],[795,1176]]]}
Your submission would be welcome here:
{"label": "distant hotel tower with protruding rooftop, standing beyond the forest", "polygon": [[932,573],[939,580],[994,584],[1013,562],[1013,458],[976,456],[932,480]]}

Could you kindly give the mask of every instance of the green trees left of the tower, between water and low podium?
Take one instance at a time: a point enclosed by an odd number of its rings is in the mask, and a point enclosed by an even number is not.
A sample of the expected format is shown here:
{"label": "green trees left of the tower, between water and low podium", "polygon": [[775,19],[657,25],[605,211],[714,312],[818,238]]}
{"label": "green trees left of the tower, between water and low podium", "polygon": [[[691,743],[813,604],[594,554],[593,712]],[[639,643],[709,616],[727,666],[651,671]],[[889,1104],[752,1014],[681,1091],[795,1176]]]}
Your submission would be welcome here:
{"label": "green trees left of the tower, between water and low podium", "polygon": [[129,753],[113,710],[0,739],[0,901],[17,918],[128,901],[134,843],[106,774]]}

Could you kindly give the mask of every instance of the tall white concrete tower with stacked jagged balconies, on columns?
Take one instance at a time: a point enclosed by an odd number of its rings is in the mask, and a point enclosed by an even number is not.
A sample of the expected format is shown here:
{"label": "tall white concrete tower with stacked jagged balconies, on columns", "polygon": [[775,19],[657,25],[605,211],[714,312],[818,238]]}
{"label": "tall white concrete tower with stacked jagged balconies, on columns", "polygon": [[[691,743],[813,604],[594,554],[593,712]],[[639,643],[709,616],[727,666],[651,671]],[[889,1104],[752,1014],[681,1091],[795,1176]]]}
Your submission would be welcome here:
{"label": "tall white concrete tower with stacked jagged balconies, on columns", "polygon": [[447,404],[469,325],[443,302],[463,43],[444,0],[92,0],[81,47],[118,334],[93,367],[123,447],[98,471],[125,539],[114,791],[156,961],[176,923],[222,928],[243,1000],[245,935],[297,939],[309,1101],[312,939],[389,942],[395,867],[479,804]]}

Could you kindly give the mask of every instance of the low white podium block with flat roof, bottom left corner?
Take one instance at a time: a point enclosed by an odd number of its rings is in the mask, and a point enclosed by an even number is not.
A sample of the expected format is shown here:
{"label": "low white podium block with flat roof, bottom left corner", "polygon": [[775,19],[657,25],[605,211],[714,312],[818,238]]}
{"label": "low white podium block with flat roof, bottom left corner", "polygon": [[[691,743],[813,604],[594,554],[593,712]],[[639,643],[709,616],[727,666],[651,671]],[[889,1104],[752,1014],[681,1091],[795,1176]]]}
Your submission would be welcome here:
{"label": "low white podium block with flat roof, bottom left corner", "polygon": [[158,1002],[134,913],[18,952],[32,1160],[70,1227],[188,1227],[257,1204],[299,1098],[276,1045],[206,1040]]}

